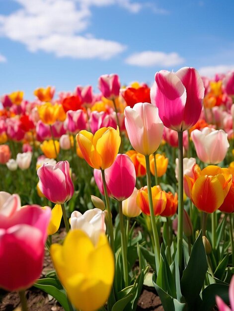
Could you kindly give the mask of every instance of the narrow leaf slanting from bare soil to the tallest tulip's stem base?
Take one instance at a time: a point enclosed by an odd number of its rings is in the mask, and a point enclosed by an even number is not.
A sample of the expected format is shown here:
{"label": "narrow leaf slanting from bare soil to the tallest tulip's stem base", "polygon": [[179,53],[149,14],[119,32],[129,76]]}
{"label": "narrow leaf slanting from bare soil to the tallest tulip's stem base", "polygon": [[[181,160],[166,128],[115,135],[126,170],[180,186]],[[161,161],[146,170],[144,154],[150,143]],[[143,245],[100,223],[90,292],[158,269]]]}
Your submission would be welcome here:
{"label": "narrow leaf slanting from bare soil to the tallest tulip's stem base", "polygon": [[164,310],[169,311],[187,311],[187,305],[185,303],[180,303],[178,300],[171,297],[167,294],[160,286],[156,284],[156,273],[154,272],[152,278],[153,284],[157,291],[158,296],[160,297],[162,306]]}

